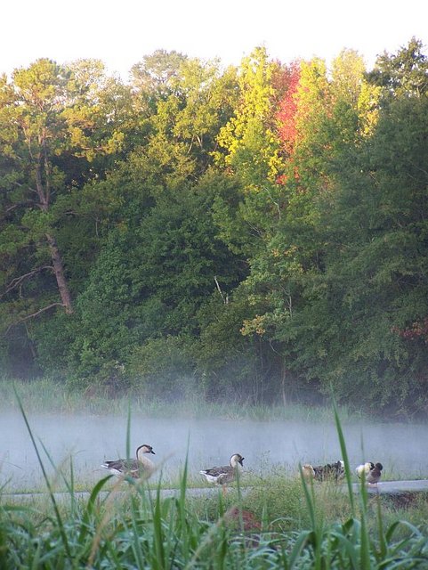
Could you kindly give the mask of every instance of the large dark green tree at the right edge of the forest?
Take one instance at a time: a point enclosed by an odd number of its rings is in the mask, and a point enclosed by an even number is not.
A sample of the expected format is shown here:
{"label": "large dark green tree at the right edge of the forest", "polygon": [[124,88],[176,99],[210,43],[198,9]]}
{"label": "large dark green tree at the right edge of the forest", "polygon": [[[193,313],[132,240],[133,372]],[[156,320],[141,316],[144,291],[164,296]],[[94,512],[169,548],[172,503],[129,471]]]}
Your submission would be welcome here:
{"label": "large dark green tree at the right edge of the forest", "polygon": [[[344,333],[343,359],[333,360],[342,365],[348,359],[355,362],[355,376],[364,379],[360,386],[371,387],[367,400],[398,401],[404,407],[422,394],[426,367],[423,354],[415,359],[411,342],[406,346],[397,334],[428,308],[427,180],[422,166],[426,111],[426,100],[405,99],[381,116],[376,133],[361,151],[359,173],[348,170],[333,216],[330,203],[324,218],[337,224],[332,229],[340,243],[339,250],[329,249],[325,273],[332,292],[327,311],[340,315]],[[363,177],[364,183],[356,183],[353,176]],[[350,208],[354,203],[356,207]]]}

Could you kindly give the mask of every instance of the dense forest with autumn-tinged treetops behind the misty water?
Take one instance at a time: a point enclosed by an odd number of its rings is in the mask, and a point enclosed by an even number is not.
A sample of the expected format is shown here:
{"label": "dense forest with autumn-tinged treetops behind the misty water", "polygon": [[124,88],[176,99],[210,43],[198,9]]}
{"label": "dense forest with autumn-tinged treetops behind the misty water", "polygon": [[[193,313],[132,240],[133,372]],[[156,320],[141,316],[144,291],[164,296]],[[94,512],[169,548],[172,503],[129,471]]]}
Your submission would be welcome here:
{"label": "dense forest with autumn-tinged treetops behind the misty water", "polygon": [[0,77],[4,378],[427,411],[423,50]]}

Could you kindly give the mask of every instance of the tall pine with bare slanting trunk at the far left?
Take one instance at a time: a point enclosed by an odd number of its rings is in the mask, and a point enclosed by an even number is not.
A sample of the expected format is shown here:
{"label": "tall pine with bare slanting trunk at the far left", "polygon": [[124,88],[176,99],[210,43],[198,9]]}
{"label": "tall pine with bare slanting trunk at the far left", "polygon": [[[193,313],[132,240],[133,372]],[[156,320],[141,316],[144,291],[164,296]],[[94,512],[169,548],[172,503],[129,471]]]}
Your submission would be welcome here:
{"label": "tall pine with bare slanting trunk at the far left", "polygon": [[[38,308],[43,311],[52,305],[62,305],[67,313],[72,312],[71,296],[62,257],[58,248],[49,215],[52,193],[61,184],[61,174],[52,164],[52,157],[61,153],[67,143],[64,137],[65,124],[61,118],[66,98],[68,77],[52,61],[40,60],[29,69],[19,69],[13,74],[13,85],[4,79],[4,97],[0,110],[2,151],[9,159],[12,173],[9,176],[9,207],[7,213],[15,222],[6,225],[3,244],[6,256],[20,253],[23,248],[36,246],[41,252],[47,247],[49,260],[44,255],[43,264],[26,267],[26,272],[12,276],[6,283],[6,291],[20,289],[28,279],[41,271],[53,272],[61,302]],[[7,218],[6,218],[7,220]],[[20,224],[17,224],[20,220]],[[20,251],[8,239],[7,231],[19,234]],[[19,263],[16,261],[16,268]],[[8,266],[10,270],[12,265]]]}

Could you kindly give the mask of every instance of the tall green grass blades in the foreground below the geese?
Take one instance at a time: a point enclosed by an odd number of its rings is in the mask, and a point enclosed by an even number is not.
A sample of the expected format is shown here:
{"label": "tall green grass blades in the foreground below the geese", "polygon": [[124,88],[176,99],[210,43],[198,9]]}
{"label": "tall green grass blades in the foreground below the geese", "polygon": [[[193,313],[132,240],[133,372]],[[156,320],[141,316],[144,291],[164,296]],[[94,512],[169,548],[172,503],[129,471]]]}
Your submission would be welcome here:
{"label": "tall green grass blades in the foreground below the geese", "polygon": [[[20,402],[20,401],[19,401]],[[354,495],[341,422],[337,433],[348,493],[302,477],[223,497],[192,499],[185,462],[180,488],[164,497],[148,481],[101,478],[77,500],[72,469],[61,501],[22,403],[20,411],[44,474],[48,502],[20,506],[0,494],[0,568],[109,569],[396,569],[428,567],[425,525],[385,517],[365,485]],[[126,447],[129,452],[131,413]],[[114,482],[113,485],[110,485]],[[263,483],[263,482],[262,482]],[[265,482],[264,482],[265,483]],[[333,504],[332,504],[333,503]],[[327,505],[335,512],[328,512]],[[248,520],[255,521],[248,527]]]}

